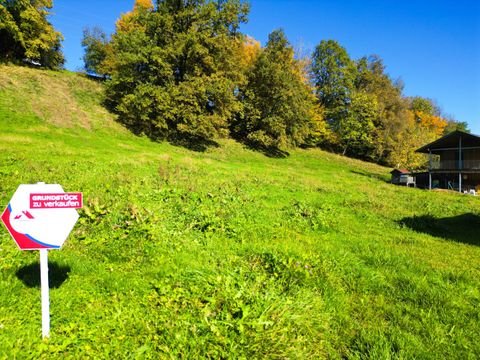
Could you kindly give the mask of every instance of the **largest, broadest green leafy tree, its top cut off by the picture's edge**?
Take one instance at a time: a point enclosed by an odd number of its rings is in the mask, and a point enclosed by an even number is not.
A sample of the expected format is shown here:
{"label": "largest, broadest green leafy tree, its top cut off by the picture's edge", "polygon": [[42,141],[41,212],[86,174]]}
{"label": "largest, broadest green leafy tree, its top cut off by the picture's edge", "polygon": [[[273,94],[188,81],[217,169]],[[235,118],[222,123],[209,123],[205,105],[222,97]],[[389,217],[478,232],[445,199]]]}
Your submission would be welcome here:
{"label": "largest, broadest green leafy tree, its top cut off by the picture's edge", "polygon": [[238,111],[240,1],[137,1],[117,22],[103,68],[121,121],[152,137],[227,135]]}

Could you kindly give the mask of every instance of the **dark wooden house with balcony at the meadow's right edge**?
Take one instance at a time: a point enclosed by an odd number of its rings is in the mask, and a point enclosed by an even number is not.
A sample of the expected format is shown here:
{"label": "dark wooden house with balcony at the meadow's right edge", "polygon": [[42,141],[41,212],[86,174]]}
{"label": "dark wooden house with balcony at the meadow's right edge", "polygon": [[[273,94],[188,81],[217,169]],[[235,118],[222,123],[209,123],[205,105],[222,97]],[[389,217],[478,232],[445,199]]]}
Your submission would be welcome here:
{"label": "dark wooden house with balcony at the meadow's right edge", "polygon": [[480,136],[453,131],[417,152],[428,154],[429,189],[480,190]]}

